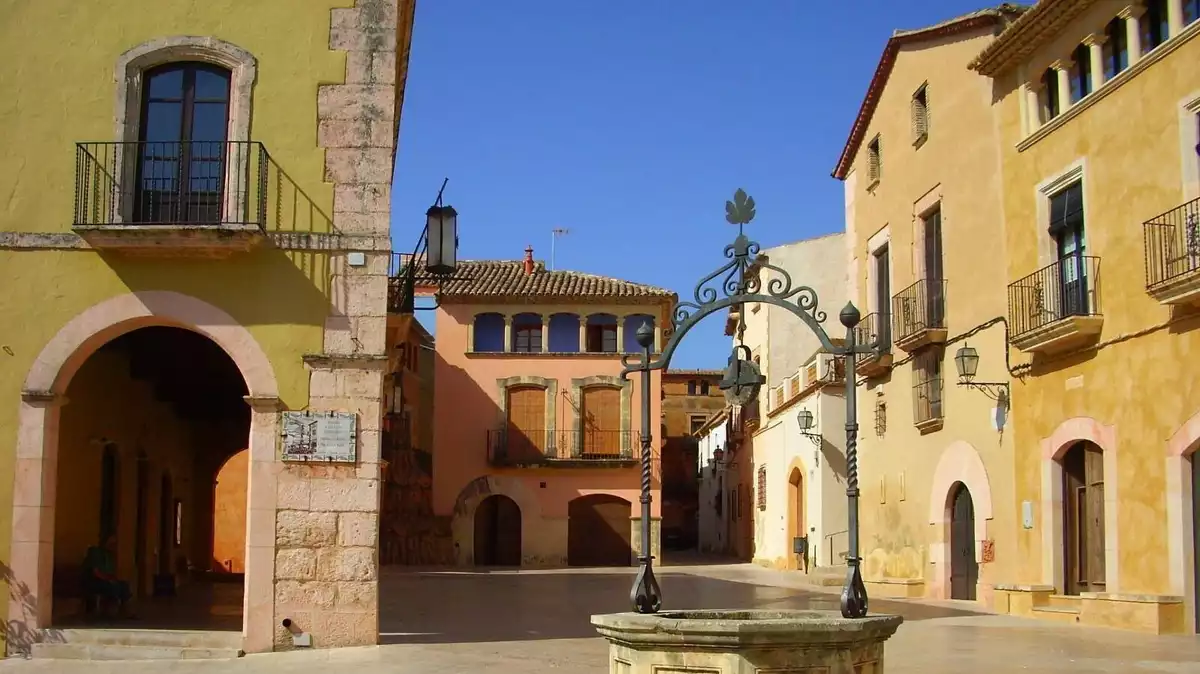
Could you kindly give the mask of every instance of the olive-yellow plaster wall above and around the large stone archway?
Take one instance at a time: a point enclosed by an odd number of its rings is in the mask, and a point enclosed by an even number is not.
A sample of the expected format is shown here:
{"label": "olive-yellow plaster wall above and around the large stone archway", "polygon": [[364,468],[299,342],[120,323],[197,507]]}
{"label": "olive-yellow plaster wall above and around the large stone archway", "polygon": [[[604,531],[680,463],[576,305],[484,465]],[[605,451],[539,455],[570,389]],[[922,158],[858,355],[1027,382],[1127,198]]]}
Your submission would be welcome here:
{"label": "olive-yellow plaster wall above and around the large stone archway", "polygon": [[[298,200],[296,211],[317,213],[302,227],[320,230],[332,213],[332,187],[323,182],[324,152],[317,145],[317,88],[343,80],[346,55],[329,49],[330,10],[350,5],[0,2],[0,60],[6,64],[0,68],[0,146],[11,157],[0,163],[0,234],[71,231],[74,143],[114,140],[118,58],[139,43],[178,35],[218,37],[257,58],[250,137],[265,144],[292,181],[272,187],[270,198]],[[272,201],[272,224],[294,224],[292,207],[278,211]],[[42,347],[88,307],[130,291],[175,290],[224,309],[270,357],[286,407],[305,408],[308,373],[300,356],[322,351],[329,265],[326,254],[269,247],[222,261],[0,248],[0,285],[10,289],[0,295],[0,315],[20,325],[0,338],[0,399],[6,401],[0,405],[0,473],[13,473],[19,392]],[[0,503],[11,498],[11,480],[0,481]],[[10,513],[0,508],[4,556]]]}

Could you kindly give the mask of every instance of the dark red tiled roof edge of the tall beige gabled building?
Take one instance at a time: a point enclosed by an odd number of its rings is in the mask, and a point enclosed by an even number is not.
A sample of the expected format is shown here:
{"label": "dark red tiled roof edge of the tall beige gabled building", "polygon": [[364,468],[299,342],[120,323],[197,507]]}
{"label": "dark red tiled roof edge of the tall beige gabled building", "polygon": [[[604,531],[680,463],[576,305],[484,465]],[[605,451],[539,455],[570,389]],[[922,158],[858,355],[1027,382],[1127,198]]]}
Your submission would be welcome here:
{"label": "dark red tiled roof edge of the tall beige gabled building", "polygon": [[838,180],[844,180],[846,174],[850,173],[850,167],[854,163],[854,155],[858,154],[858,149],[863,144],[863,138],[866,136],[866,127],[870,126],[871,118],[875,116],[875,107],[880,103],[880,96],[883,94],[883,86],[892,74],[892,66],[895,65],[896,53],[900,52],[900,47],[985,25],[1003,26],[1020,17],[1026,10],[1027,7],[1025,6],[1004,2],[996,7],[977,10],[960,17],[954,17],[931,26],[893,31],[892,38],[888,40],[887,46],[883,48],[880,65],[875,67],[875,74],[866,88],[866,96],[863,97],[863,104],[858,108],[858,116],[854,118],[854,125],[850,130],[850,138],[841,150],[841,157],[838,158],[838,166],[833,169],[833,176]]}

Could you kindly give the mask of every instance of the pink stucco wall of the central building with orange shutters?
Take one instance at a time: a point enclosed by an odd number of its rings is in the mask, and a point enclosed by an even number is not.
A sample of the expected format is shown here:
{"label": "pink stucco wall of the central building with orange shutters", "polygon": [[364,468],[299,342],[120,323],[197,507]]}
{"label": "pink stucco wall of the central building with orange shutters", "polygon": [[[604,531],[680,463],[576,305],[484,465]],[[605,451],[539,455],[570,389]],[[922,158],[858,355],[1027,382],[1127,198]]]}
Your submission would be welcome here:
{"label": "pink stucco wall of the central building with orange shutters", "polygon": [[[494,311],[494,309],[493,309]],[[536,311],[529,308],[528,311]],[[542,517],[566,517],[568,503],[575,498],[613,494],[640,507],[641,469],[540,468],[503,469],[487,464],[487,431],[496,428],[500,414],[502,391],[497,379],[541,377],[558,381],[556,423],[570,428],[570,410],[563,393],[571,392],[571,379],[594,375],[620,375],[620,356],[612,355],[516,355],[468,354],[468,326],[473,307],[449,305],[437,311],[433,393],[433,511],[452,514],[460,493],[473,480],[485,475],[518,479],[536,495]],[[587,312],[578,312],[587,313]],[[653,313],[655,307],[630,306],[625,314]],[[660,318],[661,319],[661,318]],[[661,416],[661,377],[650,378],[650,429],[654,434],[653,516],[660,516],[659,438]],[[631,431],[640,431],[641,383],[635,375],[631,401]],[[640,455],[638,446],[634,447]],[[541,485],[545,483],[545,487]]]}

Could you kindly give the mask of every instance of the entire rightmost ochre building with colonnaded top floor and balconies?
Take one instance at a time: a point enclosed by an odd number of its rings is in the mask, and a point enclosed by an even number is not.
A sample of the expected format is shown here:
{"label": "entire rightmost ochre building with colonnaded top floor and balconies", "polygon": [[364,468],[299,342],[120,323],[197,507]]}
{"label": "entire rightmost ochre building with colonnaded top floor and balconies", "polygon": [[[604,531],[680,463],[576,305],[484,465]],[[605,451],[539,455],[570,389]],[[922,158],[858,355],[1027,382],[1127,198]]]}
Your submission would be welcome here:
{"label": "entire rightmost ochre building with colonnaded top floor and balconies", "polygon": [[1044,0],[972,64],[996,101],[1021,372],[1013,613],[1196,627],[1198,18],[1195,0]]}

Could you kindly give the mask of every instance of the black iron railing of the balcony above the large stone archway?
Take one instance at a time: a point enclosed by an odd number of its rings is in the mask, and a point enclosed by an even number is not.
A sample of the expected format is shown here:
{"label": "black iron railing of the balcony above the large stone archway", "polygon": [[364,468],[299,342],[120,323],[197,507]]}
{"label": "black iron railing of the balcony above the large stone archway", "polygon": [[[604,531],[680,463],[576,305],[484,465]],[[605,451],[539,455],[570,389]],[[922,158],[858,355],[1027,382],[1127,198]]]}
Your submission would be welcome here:
{"label": "black iron railing of the balcony above the large stone archway", "polygon": [[76,227],[266,224],[257,142],[76,144]]}

